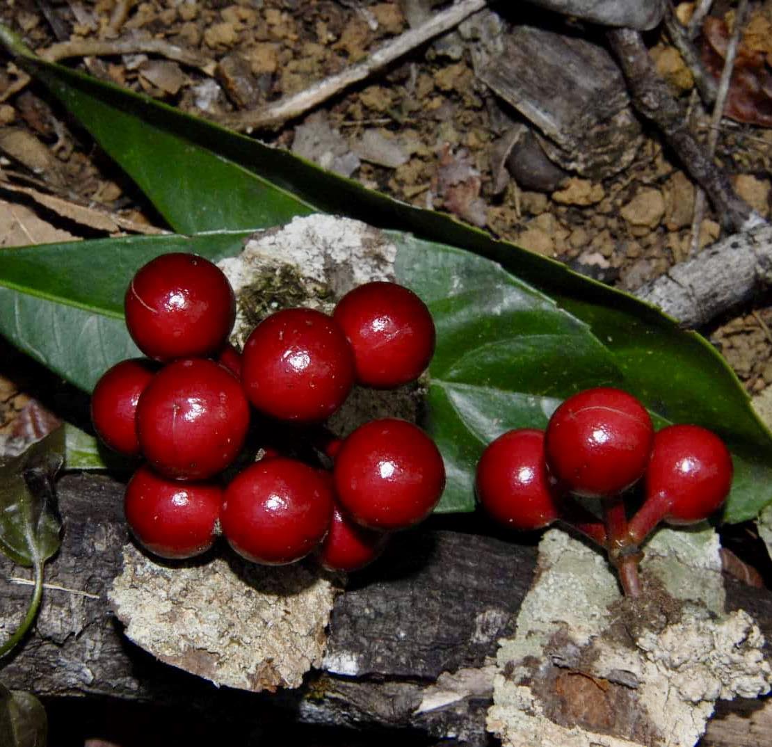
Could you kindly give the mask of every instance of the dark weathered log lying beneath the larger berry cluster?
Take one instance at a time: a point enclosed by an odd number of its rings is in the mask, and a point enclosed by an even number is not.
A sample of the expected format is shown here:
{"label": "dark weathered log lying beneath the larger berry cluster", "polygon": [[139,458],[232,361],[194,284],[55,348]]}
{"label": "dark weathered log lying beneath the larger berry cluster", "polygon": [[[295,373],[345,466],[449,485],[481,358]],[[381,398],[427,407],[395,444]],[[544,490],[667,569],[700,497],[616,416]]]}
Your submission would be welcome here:
{"label": "dark weathered log lying beneath the larger berry cluster", "polygon": [[[154,660],[121,634],[106,593],[128,541],[122,491],[107,477],[70,475],[59,481],[63,546],[47,570],[51,586],[36,630],[2,670],[6,685],[48,696],[198,706],[215,717],[238,715],[263,725],[292,719],[412,726],[438,738],[486,743],[491,684],[486,665],[499,637],[512,633],[533,574],[533,546],[438,527],[394,537],[384,558],[354,576],[338,598],[325,671],[311,674],[297,690],[256,695],[215,688]],[[0,572],[6,579],[29,575],[6,559],[0,559]],[[0,621],[7,631],[22,616],[29,588],[9,583],[2,597]],[[772,636],[770,593],[748,593],[728,581],[727,597],[730,609],[748,610],[767,638]],[[726,715],[742,707],[723,707],[721,739],[704,743],[728,744],[727,728],[758,728],[750,718]]]}

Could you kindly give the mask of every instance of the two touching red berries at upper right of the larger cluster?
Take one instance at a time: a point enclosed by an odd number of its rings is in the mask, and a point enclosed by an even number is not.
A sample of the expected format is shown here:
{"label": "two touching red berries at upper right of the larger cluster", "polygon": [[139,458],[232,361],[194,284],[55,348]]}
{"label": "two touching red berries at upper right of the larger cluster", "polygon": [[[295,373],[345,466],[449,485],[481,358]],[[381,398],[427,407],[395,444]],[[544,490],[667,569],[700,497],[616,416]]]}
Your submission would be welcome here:
{"label": "two touching red berries at upper right of the larger cluster", "polygon": [[249,336],[242,382],[249,401],[280,420],[330,417],[354,382],[390,389],[415,381],[435,344],[432,316],[415,293],[391,282],[348,292],[332,318],[285,309]]}

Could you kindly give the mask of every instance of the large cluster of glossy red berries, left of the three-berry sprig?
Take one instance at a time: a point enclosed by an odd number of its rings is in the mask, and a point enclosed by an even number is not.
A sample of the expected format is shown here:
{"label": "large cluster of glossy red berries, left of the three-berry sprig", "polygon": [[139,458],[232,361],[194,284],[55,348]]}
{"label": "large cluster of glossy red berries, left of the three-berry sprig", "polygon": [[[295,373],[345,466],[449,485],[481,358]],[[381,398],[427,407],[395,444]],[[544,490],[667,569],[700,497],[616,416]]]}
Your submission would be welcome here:
{"label": "large cluster of glossy red berries, left of the three-berry sprig", "polygon": [[[264,319],[243,353],[227,342],[235,296],[212,262],[161,255],[126,292],[130,335],[152,360],[126,360],[93,391],[93,425],[126,455],[142,455],[125,512],[137,540],[164,558],[204,553],[222,532],[256,563],[293,563],[314,549],[323,566],[356,570],[387,532],[422,521],[445,486],[434,442],[396,418],[333,441],[332,472],[263,450],[225,487],[244,448],[252,407],[263,422],[318,425],[354,384],[394,388],[431,360],[425,304],[391,282],[359,286],[333,315],[284,309]],[[264,426],[265,428],[265,426]],[[260,434],[270,441],[270,433]]]}

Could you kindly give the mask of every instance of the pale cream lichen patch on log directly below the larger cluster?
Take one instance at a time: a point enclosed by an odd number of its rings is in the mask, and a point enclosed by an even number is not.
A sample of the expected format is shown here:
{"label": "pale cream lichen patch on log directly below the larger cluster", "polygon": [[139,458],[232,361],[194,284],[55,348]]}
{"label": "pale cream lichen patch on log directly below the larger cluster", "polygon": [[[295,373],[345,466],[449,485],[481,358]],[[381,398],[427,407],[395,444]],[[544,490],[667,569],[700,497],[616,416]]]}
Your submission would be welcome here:
{"label": "pale cream lichen patch on log directly below the larger cluster", "polygon": [[273,691],[320,665],[335,593],[302,564],[172,567],[127,545],[109,598],[127,637],[161,661],[217,685]]}

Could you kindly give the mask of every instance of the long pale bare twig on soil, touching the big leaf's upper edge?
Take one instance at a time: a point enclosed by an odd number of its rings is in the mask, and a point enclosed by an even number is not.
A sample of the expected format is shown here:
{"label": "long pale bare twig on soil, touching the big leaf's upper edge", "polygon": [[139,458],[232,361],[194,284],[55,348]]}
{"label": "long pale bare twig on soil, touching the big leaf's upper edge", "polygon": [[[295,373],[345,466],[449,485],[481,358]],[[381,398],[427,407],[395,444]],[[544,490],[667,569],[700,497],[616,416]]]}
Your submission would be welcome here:
{"label": "long pale bare twig on soil, touching the big leaf's upper edge", "polygon": [[359,83],[374,73],[378,73],[395,59],[411,52],[430,39],[434,39],[435,36],[455,28],[469,15],[482,10],[485,6],[486,0],[458,0],[450,8],[433,13],[426,22],[416,26],[415,29],[410,29],[395,39],[391,39],[380,49],[372,52],[364,62],[351,66],[337,75],[320,80],[306,90],[293,94],[293,96],[285,96],[283,99],[258,110],[218,117],[218,121],[227,127],[249,133],[252,130],[273,127],[286,122],[286,120],[299,117],[354,83]]}

